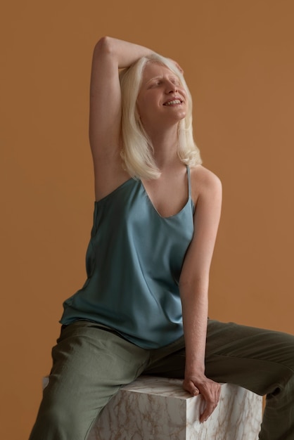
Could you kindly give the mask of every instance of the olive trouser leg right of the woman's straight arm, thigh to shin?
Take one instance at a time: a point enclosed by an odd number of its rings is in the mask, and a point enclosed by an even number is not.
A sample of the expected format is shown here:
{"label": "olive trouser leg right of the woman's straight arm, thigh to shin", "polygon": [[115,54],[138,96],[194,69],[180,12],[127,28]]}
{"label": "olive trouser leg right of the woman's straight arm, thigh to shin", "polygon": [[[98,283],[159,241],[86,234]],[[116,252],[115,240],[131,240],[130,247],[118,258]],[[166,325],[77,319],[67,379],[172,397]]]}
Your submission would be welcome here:
{"label": "olive trouser leg right of the woman's straight arm, thigh to shin", "polygon": [[267,394],[259,438],[294,439],[294,337],[208,321],[207,377]]}

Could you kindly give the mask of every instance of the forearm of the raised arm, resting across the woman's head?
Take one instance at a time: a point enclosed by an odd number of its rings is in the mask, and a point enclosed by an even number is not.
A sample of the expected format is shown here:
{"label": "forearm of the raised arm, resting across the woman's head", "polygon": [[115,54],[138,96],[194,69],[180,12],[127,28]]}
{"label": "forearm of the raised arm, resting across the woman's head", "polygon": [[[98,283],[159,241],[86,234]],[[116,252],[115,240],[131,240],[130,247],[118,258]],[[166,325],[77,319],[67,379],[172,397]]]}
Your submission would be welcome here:
{"label": "forearm of the raised arm, resting across the woman's head", "polygon": [[130,43],[113,37],[103,37],[96,44],[94,58],[97,54],[110,56],[118,68],[129,67],[143,56],[149,56],[153,51],[139,44]]}

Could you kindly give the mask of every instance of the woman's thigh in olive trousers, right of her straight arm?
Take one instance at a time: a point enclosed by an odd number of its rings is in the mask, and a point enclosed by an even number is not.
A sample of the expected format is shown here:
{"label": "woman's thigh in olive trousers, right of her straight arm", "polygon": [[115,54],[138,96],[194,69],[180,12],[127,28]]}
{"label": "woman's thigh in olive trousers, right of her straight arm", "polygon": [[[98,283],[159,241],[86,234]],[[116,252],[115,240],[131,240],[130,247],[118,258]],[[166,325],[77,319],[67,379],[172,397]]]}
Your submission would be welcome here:
{"label": "woman's thigh in olive trousers, right of her straight arm", "polygon": [[293,369],[293,335],[208,321],[205,372],[212,380],[264,395],[286,383]]}

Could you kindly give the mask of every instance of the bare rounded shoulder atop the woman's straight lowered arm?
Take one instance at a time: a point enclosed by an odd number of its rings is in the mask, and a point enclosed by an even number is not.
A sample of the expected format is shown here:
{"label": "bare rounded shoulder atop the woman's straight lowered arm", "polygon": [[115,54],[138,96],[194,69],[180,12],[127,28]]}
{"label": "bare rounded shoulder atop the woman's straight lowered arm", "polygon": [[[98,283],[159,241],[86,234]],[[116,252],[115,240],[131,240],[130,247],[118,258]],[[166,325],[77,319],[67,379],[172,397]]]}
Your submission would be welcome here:
{"label": "bare rounded shoulder atop the woman's straight lowered arm", "polygon": [[219,177],[202,165],[191,168],[191,189],[194,202],[202,195],[222,197],[222,182]]}

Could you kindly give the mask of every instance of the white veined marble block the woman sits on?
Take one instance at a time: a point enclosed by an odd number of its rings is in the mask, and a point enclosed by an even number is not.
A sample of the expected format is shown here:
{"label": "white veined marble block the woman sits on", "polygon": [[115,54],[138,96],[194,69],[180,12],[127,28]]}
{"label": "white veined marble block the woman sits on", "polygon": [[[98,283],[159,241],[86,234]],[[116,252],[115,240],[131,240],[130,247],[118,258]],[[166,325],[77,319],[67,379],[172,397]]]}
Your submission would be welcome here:
{"label": "white veined marble block the woman sits on", "polygon": [[217,408],[207,422],[200,423],[203,400],[185,392],[181,382],[141,376],[122,387],[88,440],[257,440],[262,397],[222,384]]}

